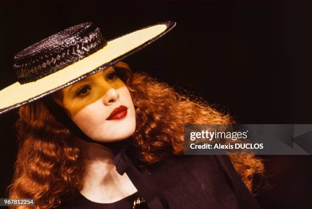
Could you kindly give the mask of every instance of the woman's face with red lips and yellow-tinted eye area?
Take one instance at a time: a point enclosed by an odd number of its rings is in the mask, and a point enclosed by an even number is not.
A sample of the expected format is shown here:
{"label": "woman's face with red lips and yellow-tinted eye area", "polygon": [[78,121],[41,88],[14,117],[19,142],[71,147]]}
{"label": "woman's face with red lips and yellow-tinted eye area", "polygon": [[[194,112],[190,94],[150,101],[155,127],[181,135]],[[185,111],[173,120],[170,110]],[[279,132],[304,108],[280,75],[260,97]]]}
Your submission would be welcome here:
{"label": "woman's face with red lips and yellow-tinted eye area", "polygon": [[[94,141],[118,141],[134,133],[134,104],[113,67],[63,88],[62,94],[63,99],[56,102],[68,109],[72,121]],[[118,107],[119,113],[112,117]]]}

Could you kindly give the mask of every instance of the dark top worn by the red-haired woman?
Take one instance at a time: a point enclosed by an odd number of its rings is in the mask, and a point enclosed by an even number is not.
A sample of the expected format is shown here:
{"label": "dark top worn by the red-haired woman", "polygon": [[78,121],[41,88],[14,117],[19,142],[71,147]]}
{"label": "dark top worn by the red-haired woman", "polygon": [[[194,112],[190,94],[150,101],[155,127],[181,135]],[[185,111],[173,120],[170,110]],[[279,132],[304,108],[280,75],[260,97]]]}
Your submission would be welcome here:
{"label": "dark top worn by the red-haired woman", "polygon": [[[172,156],[153,164],[149,171],[167,199],[169,209],[260,208],[226,155]],[[105,204],[94,203],[78,194],[72,203],[63,203],[59,208],[129,209],[135,198],[136,193]]]}

